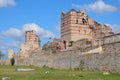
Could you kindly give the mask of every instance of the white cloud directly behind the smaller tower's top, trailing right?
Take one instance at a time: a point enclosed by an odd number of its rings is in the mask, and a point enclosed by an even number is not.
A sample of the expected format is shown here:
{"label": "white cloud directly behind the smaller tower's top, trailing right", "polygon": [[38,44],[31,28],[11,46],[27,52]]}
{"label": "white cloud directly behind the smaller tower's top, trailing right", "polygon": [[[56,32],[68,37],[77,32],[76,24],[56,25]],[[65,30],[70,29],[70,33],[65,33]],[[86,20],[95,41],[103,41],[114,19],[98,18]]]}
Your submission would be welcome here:
{"label": "white cloud directly behind the smaller tower's top, trailing right", "polygon": [[23,26],[23,31],[29,31],[29,30],[34,30],[40,37],[43,38],[55,38],[55,34],[53,34],[52,32],[48,31],[48,30],[44,30],[43,28],[39,27],[37,24],[35,23],[31,23],[31,24],[25,24]]}

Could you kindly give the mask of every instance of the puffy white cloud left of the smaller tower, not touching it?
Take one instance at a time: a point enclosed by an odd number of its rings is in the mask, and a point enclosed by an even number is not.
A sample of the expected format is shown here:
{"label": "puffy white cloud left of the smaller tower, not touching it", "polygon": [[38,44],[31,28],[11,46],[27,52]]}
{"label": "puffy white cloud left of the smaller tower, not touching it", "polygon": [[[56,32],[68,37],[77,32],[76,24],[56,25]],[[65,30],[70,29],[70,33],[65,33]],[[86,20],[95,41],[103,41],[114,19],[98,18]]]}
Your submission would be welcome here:
{"label": "puffy white cloud left of the smaller tower, not touching it", "polygon": [[22,32],[16,28],[10,28],[7,31],[2,32],[5,37],[11,38],[13,40],[21,40]]}

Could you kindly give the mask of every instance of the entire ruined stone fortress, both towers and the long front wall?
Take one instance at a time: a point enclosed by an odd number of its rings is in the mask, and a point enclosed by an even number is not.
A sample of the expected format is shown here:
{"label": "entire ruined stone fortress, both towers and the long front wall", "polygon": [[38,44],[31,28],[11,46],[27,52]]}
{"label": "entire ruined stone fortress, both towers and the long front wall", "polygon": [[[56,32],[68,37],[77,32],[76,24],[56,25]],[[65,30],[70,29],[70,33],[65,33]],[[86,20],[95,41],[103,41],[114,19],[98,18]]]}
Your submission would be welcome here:
{"label": "entire ruined stone fortress, both towers and the long front wall", "polygon": [[[120,34],[90,19],[83,10],[62,13],[61,39],[45,44],[42,50],[34,31],[26,32],[25,38],[20,56],[27,56],[27,65],[120,73]],[[70,41],[75,44],[67,48]]]}

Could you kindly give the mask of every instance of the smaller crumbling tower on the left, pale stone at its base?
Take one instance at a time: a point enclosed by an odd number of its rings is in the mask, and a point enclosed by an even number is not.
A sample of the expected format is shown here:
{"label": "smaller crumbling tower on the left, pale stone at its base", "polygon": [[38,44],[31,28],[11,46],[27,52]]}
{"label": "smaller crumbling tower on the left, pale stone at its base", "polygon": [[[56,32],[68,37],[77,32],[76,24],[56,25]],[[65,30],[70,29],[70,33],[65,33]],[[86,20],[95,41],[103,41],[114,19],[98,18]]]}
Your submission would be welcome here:
{"label": "smaller crumbling tower on the left, pale stone at its base", "polygon": [[26,31],[25,44],[20,45],[21,58],[29,57],[32,51],[40,48],[40,39],[33,30]]}

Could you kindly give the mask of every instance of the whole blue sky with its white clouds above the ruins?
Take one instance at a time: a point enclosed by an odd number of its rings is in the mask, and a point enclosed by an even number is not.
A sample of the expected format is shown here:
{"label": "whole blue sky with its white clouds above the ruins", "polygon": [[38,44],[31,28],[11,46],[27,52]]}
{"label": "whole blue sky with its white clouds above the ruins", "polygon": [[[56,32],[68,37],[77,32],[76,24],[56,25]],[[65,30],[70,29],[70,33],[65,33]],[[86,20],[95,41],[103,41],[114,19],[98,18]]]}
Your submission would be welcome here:
{"label": "whole blue sky with its white clouds above the ruins", "polygon": [[26,30],[35,30],[42,45],[60,37],[61,12],[71,9],[85,9],[93,20],[120,32],[120,0],[0,0],[0,50],[18,50]]}

